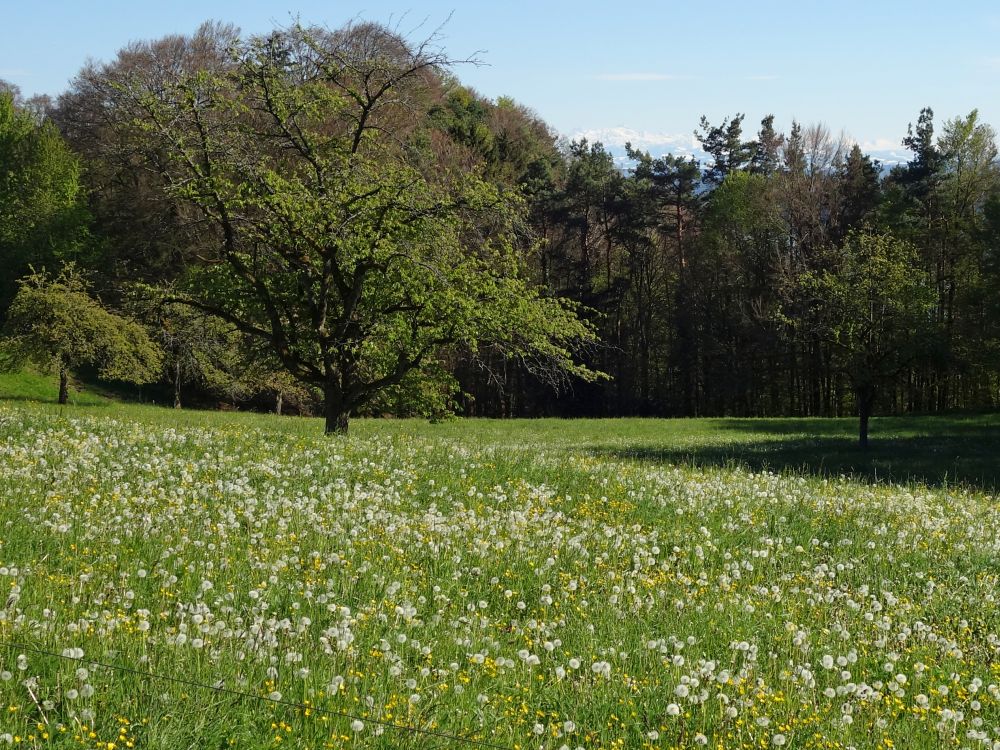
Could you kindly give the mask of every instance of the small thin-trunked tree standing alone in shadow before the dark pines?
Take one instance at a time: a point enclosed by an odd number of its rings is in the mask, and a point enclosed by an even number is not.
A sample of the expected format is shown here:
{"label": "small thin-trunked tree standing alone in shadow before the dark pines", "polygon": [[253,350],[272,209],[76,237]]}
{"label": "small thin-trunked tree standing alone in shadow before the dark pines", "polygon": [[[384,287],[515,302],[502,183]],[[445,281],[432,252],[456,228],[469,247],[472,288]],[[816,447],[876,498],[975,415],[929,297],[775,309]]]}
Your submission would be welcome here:
{"label": "small thin-trunked tree standing alone in shadow before the dark pines", "polygon": [[831,266],[801,279],[811,326],[833,349],[854,389],[858,441],[868,447],[868,420],[879,389],[894,382],[936,339],[934,291],[908,243],[871,231],[848,235]]}

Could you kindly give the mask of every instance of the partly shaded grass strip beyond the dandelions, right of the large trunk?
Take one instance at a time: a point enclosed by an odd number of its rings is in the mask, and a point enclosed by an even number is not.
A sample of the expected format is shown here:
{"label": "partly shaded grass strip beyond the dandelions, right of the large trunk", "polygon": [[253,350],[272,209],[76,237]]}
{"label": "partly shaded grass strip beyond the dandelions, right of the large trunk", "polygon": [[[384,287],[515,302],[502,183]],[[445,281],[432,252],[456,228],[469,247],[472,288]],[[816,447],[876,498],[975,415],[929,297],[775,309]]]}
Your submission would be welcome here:
{"label": "partly shaded grass strip beyond the dandelions, right of the large trunk", "polygon": [[[456,420],[412,429],[482,443],[544,442],[592,455],[653,465],[740,465],[866,481],[1000,484],[1000,415],[883,417],[872,446],[857,447],[854,419]],[[361,423],[369,434],[385,428]]]}

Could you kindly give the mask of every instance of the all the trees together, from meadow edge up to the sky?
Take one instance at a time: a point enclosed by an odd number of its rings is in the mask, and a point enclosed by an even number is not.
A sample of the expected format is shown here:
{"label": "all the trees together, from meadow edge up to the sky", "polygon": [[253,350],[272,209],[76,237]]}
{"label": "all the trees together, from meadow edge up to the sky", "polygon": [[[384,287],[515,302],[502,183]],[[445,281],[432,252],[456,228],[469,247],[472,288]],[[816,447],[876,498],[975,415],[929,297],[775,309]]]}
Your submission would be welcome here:
{"label": "all the trees together, from meadow edge up to the sky", "polygon": [[[377,24],[207,23],[55,98],[3,85],[7,366],[328,431],[856,415],[864,440],[873,413],[997,406],[1000,170],[976,111],[915,112],[891,166],[738,112],[692,113],[701,161],[623,165],[462,62]],[[79,330],[41,346],[41,318]]]}

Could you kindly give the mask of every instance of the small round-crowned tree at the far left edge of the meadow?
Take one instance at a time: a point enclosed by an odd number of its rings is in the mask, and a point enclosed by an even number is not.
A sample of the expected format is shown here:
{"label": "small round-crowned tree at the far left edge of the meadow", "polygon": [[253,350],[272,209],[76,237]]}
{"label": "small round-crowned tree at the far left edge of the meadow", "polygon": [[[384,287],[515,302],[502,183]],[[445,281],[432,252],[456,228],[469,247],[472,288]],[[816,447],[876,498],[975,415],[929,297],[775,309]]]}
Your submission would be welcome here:
{"label": "small round-crowned tree at the far left edge of the meadow", "polygon": [[0,341],[0,368],[31,363],[59,373],[59,403],[69,399],[69,375],[93,365],[101,377],[149,383],[161,357],[138,323],[105,309],[86,280],[68,265],[55,277],[32,273],[21,279]]}

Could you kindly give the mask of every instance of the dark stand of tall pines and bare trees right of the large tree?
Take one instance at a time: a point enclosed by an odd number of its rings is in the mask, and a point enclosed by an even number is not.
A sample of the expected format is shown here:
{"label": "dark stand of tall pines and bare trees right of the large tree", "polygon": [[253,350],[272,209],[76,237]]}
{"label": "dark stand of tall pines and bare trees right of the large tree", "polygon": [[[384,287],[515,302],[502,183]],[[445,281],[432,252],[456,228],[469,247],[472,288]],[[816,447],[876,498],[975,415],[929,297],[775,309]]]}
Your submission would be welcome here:
{"label": "dark stand of tall pines and bare trees right of the large tree", "polygon": [[[630,149],[623,171],[573,143],[532,186],[537,277],[593,311],[613,380],[553,402],[514,376],[494,410],[834,416],[869,385],[896,412],[996,406],[1000,171],[977,112],[936,134],[922,110],[891,169],[822,125],[747,137],[738,114],[697,135],[707,164]],[[873,237],[895,259],[854,268]],[[857,297],[819,288],[838,283]]]}

